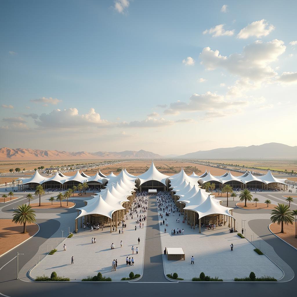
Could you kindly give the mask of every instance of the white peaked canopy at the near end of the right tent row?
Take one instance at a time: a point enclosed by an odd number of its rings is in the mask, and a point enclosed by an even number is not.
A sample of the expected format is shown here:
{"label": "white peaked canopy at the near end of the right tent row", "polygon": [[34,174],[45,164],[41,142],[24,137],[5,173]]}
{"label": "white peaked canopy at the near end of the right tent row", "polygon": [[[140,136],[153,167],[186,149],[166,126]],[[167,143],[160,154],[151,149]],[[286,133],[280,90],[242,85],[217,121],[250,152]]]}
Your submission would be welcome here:
{"label": "white peaked canopy at the near end of the right tent row", "polygon": [[184,210],[195,211],[199,215],[199,219],[211,214],[222,214],[228,217],[232,217],[229,213],[231,209],[233,208],[225,207],[217,203],[217,201],[212,198],[211,195],[208,195],[206,200],[200,205],[187,205],[184,207]]}

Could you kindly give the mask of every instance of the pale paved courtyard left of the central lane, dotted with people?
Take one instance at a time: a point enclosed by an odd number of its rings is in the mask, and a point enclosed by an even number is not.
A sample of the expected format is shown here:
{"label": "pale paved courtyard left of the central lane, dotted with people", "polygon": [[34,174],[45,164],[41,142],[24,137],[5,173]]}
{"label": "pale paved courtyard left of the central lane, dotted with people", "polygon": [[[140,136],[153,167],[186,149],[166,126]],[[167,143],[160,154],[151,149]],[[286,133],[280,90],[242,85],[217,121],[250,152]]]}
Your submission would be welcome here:
{"label": "pale paved courtyard left of the central lane, dotted with people", "polygon": [[[74,234],[72,238],[67,238],[57,247],[58,251],[54,255],[46,256],[31,271],[30,276],[33,278],[43,274],[50,276],[52,271],[56,271],[58,275],[64,275],[70,279],[82,279],[101,272],[105,277],[120,280],[122,277],[128,277],[131,271],[134,274],[142,274],[146,221],[143,222],[144,227],[139,228],[139,224],[135,223],[136,219],[134,217],[125,221],[127,227],[124,228],[123,234],[119,234],[119,231],[110,233],[110,228],[92,232],[79,228],[77,234]],[[136,231],[135,225],[138,227]],[[119,227],[121,229],[121,225]],[[92,237],[96,238],[96,244],[91,243]],[[137,241],[138,237],[140,237],[140,244]],[[123,241],[122,248],[121,240]],[[64,243],[67,247],[66,251],[63,250]],[[115,246],[113,250],[110,249],[112,243]],[[138,255],[135,251],[132,255],[132,246],[135,249],[138,247]],[[71,265],[72,256],[74,256],[74,264]],[[135,259],[133,267],[126,266],[127,256]],[[110,271],[113,259],[118,260],[116,271]]]}

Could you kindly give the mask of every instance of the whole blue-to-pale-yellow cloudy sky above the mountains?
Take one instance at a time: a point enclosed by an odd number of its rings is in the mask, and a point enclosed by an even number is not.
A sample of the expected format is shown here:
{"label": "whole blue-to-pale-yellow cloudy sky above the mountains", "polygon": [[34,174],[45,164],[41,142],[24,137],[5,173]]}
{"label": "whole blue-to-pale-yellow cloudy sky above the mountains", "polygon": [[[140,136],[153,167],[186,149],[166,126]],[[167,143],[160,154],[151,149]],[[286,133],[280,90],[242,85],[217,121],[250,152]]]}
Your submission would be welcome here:
{"label": "whole blue-to-pale-yellow cloudy sky above the mountains", "polygon": [[296,1],[0,7],[1,147],[180,155],[297,145]]}

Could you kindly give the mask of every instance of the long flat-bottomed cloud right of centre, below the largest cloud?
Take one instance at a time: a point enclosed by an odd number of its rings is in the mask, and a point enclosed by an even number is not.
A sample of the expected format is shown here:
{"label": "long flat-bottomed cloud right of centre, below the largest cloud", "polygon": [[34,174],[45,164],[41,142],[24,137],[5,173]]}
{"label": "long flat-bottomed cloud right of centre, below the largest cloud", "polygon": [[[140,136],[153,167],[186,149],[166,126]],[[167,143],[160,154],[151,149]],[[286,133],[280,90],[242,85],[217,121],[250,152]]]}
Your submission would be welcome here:
{"label": "long flat-bottomed cloud right of centre, below the largest cloud", "polygon": [[203,110],[217,110],[240,107],[247,105],[246,101],[230,101],[226,100],[224,96],[211,92],[205,94],[193,94],[189,102],[176,101],[170,104],[171,110],[176,111],[203,111]]}

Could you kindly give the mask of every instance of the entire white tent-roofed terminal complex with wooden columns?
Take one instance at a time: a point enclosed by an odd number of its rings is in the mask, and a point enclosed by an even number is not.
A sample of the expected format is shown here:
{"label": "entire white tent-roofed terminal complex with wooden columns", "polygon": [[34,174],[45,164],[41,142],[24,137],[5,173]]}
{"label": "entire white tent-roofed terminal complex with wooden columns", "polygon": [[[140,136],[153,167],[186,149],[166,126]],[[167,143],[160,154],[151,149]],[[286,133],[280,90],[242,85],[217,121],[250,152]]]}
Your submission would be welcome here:
{"label": "entire white tent-roofed terminal complex with wooden columns", "polygon": [[[214,199],[214,195],[203,189],[201,186],[206,182],[214,183],[218,188],[224,184],[230,184],[233,189],[258,188],[258,189],[285,189],[287,187],[285,179],[278,179],[268,171],[266,175],[256,177],[251,172],[246,172],[235,177],[230,172],[222,176],[212,176],[210,172],[205,172],[201,176],[194,172],[188,176],[182,169],[173,176],[160,173],[151,163],[150,168],[139,176],[129,174],[123,169],[118,176],[112,172],[106,176],[101,171],[94,176],[85,173],[77,173],[67,177],[59,172],[56,175],[44,178],[38,171],[31,178],[21,178],[21,189],[35,188],[41,184],[45,189],[60,188],[68,189],[78,184],[86,183],[90,188],[100,189],[94,194],[94,198],[86,200],[86,206],[78,208],[78,217],[75,219],[75,231],[78,231],[78,224],[92,222],[100,226],[110,226],[110,232],[117,231],[117,226],[124,220],[125,215],[131,209],[136,191],[167,191],[176,203],[179,211],[184,215],[191,228],[199,226],[201,223],[222,223],[228,226],[235,226],[235,219],[232,216],[232,208],[221,205],[221,201]],[[231,214],[229,213],[231,211]],[[79,220],[80,219],[80,220]],[[84,220],[83,220],[84,219]],[[80,222],[79,222],[80,221]],[[234,223],[232,222],[234,221]]]}

